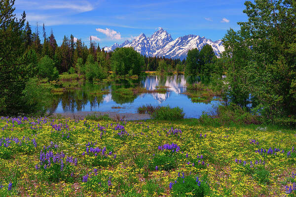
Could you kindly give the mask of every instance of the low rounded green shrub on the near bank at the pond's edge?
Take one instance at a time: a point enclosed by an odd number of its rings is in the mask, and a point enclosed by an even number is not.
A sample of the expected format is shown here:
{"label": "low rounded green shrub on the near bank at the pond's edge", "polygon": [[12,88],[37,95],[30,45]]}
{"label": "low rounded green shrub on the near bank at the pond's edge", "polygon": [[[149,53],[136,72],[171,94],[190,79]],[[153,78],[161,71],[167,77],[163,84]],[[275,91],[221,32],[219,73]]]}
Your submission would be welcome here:
{"label": "low rounded green shrub on the near bank at the pond's edge", "polygon": [[151,114],[151,117],[156,120],[180,120],[184,118],[183,109],[179,107],[171,108],[169,106],[160,107]]}

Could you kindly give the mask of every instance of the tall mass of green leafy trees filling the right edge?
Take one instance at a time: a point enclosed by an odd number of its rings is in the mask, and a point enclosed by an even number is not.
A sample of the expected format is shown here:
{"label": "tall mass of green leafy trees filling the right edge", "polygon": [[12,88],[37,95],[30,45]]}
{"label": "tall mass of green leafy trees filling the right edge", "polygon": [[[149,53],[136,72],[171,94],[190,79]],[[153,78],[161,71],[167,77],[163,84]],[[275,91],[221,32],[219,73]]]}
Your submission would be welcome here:
{"label": "tall mass of green leafy trees filling the right edge", "polygon": [[245,5],[248,21],[223,38],[220,62],[226,78],[217,78],[226,101],[249,106],[274,123],[277,117],[296,115],[296,5],[289,0]]}

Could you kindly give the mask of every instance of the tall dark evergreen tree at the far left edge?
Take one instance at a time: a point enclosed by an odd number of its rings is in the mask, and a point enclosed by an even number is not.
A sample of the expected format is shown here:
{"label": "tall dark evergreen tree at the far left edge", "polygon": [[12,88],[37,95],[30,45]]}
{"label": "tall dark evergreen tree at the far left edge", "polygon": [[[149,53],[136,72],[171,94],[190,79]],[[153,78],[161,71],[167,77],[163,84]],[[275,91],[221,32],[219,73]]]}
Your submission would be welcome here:
{"label": "tall dark evergreen tree at the far left edge", "polygon": [[[13,4],[14,0],[0,0],[0,114],[5,116],[28,111],[22,91],[35,74],[34,61],[29,61],[30,52],[27,58],[23,57],[26,14],[16,19]],[[32,53],[32,59],[33,56]]]}

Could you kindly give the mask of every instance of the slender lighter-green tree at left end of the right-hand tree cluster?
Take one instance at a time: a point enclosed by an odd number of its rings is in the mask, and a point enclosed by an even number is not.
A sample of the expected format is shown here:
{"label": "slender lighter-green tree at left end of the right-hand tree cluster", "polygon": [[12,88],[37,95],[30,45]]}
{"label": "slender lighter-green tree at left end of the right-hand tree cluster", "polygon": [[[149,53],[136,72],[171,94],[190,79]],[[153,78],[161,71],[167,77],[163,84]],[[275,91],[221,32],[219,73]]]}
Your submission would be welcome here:
{"label": "slender lighter-green tree at left end of the right-hand tree cluster", "polygon": [[231,100],[231,102],[241,107],[247,107],[250,103],[247,66],[250,61],[251,49],[245,41],[248,37],[249,33],[247,31],[235,32],[232,29],[227,31],[223,38],[225,51],[221,57],[222,61],[224,61],[226,77],[221,78],[221,75],[219,76],[224,100]]}

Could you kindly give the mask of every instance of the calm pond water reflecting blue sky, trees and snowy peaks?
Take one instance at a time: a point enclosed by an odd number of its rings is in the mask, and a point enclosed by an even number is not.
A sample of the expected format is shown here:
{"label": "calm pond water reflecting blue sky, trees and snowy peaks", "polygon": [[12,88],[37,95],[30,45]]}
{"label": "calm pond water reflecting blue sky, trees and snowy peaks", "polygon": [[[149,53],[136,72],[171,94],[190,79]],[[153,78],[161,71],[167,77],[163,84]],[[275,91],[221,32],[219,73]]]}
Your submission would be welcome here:
{"label": "calm pond water reflecting blue sky, trees and snowy peaks", "polygon": [[[73,90],[54,95],[53,112],[77,112],[77,111],[118,111],[120,113],[136,113],[137,107],[144,104],[179,106],[184,109],[186,117],[197,118],[202,111],[212,108],[210,103],[194,103],[186,95],[186,83],[209,83],[209,77],[185,76],[185,75],[161,75],[147,76],[138,80],[121,80],[113,83],[77,85]],[[147,90],[156,90],[157,87],[168,87],[168,92],[146,93],[140,95],[123,95],[117,90],[122,88],[144,87]],[[109,94],[96,94],[102,90],[109,90]],[[112,106],[121,106],[122,109],[112,109]]]}

